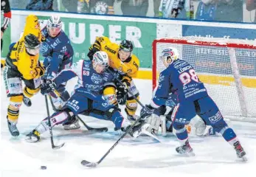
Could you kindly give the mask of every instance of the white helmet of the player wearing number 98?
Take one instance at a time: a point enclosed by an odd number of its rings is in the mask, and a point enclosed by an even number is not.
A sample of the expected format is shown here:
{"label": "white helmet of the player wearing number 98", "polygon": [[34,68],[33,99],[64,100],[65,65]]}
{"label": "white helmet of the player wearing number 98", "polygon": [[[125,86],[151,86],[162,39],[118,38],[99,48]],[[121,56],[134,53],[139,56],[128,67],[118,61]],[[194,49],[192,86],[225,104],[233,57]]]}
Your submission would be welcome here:
{"label": "white helmet of the player wearing number 98", "polygon": [[174,47],[169,47],[162,51],[161,59],[167,64],[170,65],[174,60],[179,59],[179,52]]}

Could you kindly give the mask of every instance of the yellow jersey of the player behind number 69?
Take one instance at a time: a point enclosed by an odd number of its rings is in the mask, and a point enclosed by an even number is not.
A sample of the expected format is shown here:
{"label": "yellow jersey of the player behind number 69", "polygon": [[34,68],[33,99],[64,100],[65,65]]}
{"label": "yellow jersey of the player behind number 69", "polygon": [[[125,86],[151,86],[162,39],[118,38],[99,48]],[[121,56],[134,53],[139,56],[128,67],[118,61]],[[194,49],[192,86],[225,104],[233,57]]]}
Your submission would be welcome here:
{"label": "yellow jersey of the player behind number 69", "polygon": [[100,46],[100,50],[108,54],[111,68],[128,74],[129,77],[136,77],[139,70],[139,59],[136,55],[131,55],[130,58],[122,62],[118,56],[120,46],[112,43],[108,37],[97,37],[94,44]]}

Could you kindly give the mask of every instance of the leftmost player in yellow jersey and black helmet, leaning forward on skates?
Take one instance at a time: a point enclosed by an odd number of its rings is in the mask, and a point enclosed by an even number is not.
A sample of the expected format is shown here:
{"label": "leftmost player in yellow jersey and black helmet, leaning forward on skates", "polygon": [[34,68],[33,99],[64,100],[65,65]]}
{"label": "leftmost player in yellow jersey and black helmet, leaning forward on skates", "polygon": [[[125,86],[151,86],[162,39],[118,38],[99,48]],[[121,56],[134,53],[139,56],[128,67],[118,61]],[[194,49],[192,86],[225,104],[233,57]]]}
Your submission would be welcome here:
{"label": "leftmost player in yellow jersey and black helmet, leaning forward on skates", "polygon": [[[7,123],[12,136],[19,135],[16,125],[22,100],[26,105],[31,104],[27,102],[27,97],[32,97],[40,91],[41,80],[39,77],[44,74],[44,67],[38,60],[39,48],[38,37],[28,34],[11,47],[6,58],[4,84],[7,97],[10,97]],[[24,89],[22,80],[25,83]]]}

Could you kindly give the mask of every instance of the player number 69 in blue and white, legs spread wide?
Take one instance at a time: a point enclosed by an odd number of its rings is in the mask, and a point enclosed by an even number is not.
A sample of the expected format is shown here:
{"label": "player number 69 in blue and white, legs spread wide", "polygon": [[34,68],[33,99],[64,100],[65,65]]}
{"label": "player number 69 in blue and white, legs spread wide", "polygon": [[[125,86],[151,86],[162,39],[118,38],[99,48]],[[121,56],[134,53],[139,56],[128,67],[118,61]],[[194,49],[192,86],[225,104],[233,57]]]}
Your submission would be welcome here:
{"label": "player number 69 in blue and white, legs spread wide", "polygon": [[[50,117],[52,126],[75,119],[77,114],[111,120],[115,130],[125,131],[130,122],[125,121],[120,109],[108,104],[103,98],[103,88],[113,84],[113,75],[105,69],[108,65],[108,55],[105,52],[96,52],[92,60],[79,60],[71,69],[65,69],[53,80],[46,80],[41,86],[42,94],[49,94],[53,88],[72,77],[78,77],[75,93],[68,100],[63,111],[57,111]],[[38,142],[41,133],[49,128],[47,118],[44,119],[31,133],[27,135],[28,142]]]}

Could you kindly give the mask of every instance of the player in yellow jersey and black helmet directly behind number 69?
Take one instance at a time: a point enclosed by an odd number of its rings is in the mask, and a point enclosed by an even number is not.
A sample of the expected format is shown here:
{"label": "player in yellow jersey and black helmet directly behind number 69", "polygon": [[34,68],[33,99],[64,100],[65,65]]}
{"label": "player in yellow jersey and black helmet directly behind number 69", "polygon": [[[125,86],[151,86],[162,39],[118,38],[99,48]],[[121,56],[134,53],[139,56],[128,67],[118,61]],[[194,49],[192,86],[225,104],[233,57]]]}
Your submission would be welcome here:
{"label": "player in yellow jersey and black helmet directly behind number 69", "polygon": [[[139,59],[132,54],[134,49],[131,41],[123,40],[120,45],[112,43],[107,37],[97,37],[94,44],[89,48],[88,57],[91,59],[95,52],[104,51],[108,54],[110,66],[119,73],[119,79],[126,87],[131,89],[134,96],[139,99],[139,91],[136,89],[132,77],[136,77],[139,70]],[[117,88],[117,93],[116,93]],[[115,82],[114,86],[107,86],[103,90],[105,100],[113,105],[125,105],[125,112],[129,120],[136,119],[137,103],[126,88]]]}

